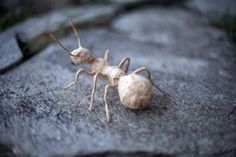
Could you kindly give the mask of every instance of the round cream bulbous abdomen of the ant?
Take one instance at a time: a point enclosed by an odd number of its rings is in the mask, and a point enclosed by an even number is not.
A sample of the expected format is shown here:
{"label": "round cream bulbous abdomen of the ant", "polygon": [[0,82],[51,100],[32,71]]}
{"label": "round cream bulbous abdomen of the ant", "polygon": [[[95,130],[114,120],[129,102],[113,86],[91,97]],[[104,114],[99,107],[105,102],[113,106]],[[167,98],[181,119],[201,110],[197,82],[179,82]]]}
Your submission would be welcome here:
{"label": "round cream bulbous abdomen of the ant", "polygon": [[152,88],[152,84],[147,79],[137,74],[130,74],[120,78],[118,92],[125,107],[143,109],[152,99]]}

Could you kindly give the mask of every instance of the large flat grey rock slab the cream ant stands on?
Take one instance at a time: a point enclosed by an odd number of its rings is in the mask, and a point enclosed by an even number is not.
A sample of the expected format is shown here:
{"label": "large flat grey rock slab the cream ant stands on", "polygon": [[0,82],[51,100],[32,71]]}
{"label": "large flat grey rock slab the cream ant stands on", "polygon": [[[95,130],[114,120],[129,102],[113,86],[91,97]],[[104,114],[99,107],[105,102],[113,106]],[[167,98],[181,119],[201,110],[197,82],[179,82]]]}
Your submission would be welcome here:
{"label": "large flat grey rock slab the cream ant stands on", "polygon": [[[148,109],[132,111],[111,91],[112,122],[106,123],[106,82],[99,81],[88,111],[92,78],[82,75],[74,88],[61,90],[79,67],[52,44],[0,76],[1,143],[35,157],[234,156],[236,65],[225,33],[178,8],[131,12],[113,27],[81,31],[82,44],[99,57],[110,49],[112,65],[131,57],[131,71],[147,66],[169,96],[156,92]],[[61,41],[77,47],[74,34]]]}

